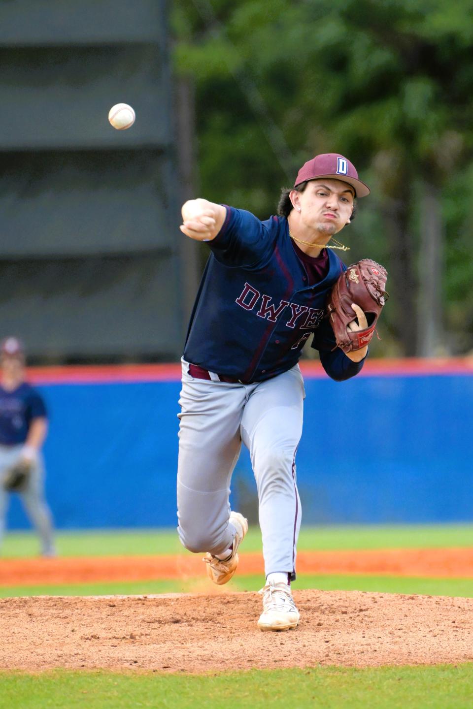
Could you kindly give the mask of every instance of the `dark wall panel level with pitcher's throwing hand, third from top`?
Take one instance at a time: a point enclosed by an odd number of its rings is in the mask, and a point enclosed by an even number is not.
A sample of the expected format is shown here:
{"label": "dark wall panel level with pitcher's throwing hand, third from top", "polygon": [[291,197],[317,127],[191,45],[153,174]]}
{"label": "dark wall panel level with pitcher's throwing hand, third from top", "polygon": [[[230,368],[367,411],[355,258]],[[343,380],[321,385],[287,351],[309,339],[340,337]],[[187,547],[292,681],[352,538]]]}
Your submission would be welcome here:
{"label": "dark wall panel level with pitcher's throwing hand, third from top", "polygon": [[1,258],[166,247],[180,234],[169,213],[172,178],[170,158],[157,150],[6,153]]}

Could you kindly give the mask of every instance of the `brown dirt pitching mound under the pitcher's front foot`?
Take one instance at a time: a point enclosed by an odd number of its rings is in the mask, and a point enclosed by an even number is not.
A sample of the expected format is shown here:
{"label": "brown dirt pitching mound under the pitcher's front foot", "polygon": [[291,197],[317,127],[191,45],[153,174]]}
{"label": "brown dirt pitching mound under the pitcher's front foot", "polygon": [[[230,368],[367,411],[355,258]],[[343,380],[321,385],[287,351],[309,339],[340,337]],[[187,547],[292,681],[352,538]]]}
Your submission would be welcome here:
{"label": "brown dirt pitching mound under the pitcher's front foot", "polygon": [[473,660],[473,599],[295,591],[301,623],[261,632],[257,593],[0,599],[0,667],[208,672]]}

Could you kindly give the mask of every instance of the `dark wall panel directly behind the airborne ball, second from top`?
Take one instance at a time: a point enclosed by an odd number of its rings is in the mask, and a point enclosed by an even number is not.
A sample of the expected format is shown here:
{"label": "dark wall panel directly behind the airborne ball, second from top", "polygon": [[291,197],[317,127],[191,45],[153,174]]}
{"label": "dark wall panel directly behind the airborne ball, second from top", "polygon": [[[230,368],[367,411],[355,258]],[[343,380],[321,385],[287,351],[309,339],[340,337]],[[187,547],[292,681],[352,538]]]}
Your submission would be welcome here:
{"label": "dark wall panel directly behind the airborne ball, second from top", "polygon": [[[0,50],[0,150],[143,147],[169,142],[169,88],[157,46]],[[133,106],[128,130],[108,123]]]}

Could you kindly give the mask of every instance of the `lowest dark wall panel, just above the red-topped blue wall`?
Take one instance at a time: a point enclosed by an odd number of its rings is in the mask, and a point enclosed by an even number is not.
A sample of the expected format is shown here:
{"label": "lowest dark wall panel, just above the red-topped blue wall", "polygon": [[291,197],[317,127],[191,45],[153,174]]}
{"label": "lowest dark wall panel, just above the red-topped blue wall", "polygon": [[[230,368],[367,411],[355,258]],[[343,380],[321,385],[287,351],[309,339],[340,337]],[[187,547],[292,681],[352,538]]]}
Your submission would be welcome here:
{"label": "lowest dark wall panel, just above the red-topped blue wall", "polygon": [[35,359],[173,357],[175,267],[168,254],[0,262],[0,335]]}

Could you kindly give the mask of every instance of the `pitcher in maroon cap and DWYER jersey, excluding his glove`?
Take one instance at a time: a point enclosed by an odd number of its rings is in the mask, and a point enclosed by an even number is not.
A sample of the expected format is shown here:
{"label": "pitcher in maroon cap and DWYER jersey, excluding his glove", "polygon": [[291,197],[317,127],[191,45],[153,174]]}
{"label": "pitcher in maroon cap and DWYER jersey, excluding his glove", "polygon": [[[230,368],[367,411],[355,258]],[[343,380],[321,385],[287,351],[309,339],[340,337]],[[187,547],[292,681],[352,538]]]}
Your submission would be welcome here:
{"label": "pitcher in maroon cap and DWYER jersey, excluding his glove", "polygon": [[[193,199],[182,206],[182,233],[210,256],[191,314],[182,357],[177,507],[179,538],[206,552],[208,576],[235,573],[247,520],[230,511],[230,478],[243,441],[250,451],[265,558],[262,630],[299,623],[291,596],[301,501],[296,450],[302,432],[304,343],[325,372],[342,381],[362,369],[367,347],[345,354],[325,315],[331,286],[346,267],[334,239],[350,223],[355,199],[369,194],[350,160],[317,155],[282,191],[279,216],[260,221],[242,209]],[[332,241],[331,243],[329,243]],[[353,332],[367,327],[362,309]],[[325,423],[313,422],[321,440]],[[318,457],[320,460],[320,456]]]}

